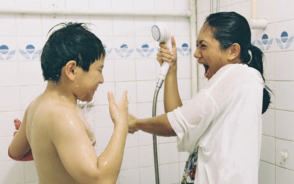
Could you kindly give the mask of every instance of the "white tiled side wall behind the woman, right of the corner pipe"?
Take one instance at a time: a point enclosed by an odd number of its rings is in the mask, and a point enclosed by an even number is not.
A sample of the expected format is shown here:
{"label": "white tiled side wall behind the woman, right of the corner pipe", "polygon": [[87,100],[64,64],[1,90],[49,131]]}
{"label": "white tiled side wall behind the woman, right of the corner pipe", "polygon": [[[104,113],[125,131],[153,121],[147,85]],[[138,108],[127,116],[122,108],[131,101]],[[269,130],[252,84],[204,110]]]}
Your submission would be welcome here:
{"label": "white tiled side wall behind the woman, right of the corner pipe", "polygon": [[[214,1],[214,8],[216,1]],[[250,0],[220,0],[220,11],[236,11],[251,18]],[[197,30],[210,13],[210,1],[197,0]],[[266,18],[265,30],[252,30],[252,42],[261,41],[267,34],[269,42],[259,46],[264,51],[266,84],[274,92],[270,108],[264,113],[262,124],[259,184],[293,183],[294,180],[294,1],[267,0],[257,2],[258,18]],[[215,10],[214,10],[215,12]],[[286,39],[281,41],[281,34]],[[284,33],[285,34],[285,33]],[[256,45],[256,44],[255,44]],[[206,83],[202,66],[198,67],[198,89]],[[281,152],[287,149],[283,163]]]}

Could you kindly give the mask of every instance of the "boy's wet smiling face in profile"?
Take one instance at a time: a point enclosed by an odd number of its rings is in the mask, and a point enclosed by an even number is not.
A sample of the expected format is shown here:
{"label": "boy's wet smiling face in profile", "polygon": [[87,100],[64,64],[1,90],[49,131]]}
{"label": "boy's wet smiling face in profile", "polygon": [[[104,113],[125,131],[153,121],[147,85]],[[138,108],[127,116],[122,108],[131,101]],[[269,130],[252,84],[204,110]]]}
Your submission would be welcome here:
{"label": "boy's wet smiling face in profile", "polygon": [[78,67],[80,75],[75,81],[77,88],[75,95],[77,99],[87,102],[90,102],[93,99],[98,85],[104,82],[102,75],[103,66],[104,58],[100,58],[90,65],[88,72]]}

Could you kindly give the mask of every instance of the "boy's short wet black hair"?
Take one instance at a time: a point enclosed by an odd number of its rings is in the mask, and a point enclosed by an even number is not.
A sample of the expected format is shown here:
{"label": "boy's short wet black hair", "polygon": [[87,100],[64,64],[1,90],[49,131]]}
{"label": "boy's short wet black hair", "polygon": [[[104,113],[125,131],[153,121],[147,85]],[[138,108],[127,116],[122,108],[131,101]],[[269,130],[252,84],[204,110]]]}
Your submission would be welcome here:
{"label": "boy's short wet black hair", "polygon": [[87,24],[69,22],[56,26],[62,28],[53,31],[49,36],[40,59],[45,81],[59,81],[61,69],[68,61],[76,61],[78,67],[89,71],[94,61],[105,57],[101,40],[91,33]]}

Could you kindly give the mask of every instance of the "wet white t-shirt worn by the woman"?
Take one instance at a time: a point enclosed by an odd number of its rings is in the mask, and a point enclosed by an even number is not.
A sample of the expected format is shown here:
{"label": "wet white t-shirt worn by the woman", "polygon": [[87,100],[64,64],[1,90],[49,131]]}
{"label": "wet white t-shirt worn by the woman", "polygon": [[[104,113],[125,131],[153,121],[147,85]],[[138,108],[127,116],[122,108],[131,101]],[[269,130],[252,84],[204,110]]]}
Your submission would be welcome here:
{"label": "wet white t-shirt worn by the woman", "polygon": [[195,184],[258,184],[263,88],[256,69],[228,64],[167,114],[178,150],[198,149]]}

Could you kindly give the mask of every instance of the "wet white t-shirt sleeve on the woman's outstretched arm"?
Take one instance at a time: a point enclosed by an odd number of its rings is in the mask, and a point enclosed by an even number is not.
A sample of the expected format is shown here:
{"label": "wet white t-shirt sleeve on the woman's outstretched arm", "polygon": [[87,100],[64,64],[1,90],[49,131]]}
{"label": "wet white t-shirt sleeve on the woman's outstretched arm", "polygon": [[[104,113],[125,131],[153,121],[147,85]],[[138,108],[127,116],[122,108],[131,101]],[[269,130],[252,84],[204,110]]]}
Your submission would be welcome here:
{"label": "wet white t-shirt sleeve on the woman's outstretched arm", "polygon": [[201,135],[217,114],[218,108],[212,97],[200,91],[186,104],[169,112],[169,123],[177,134],[178,151],[192,152]]}

